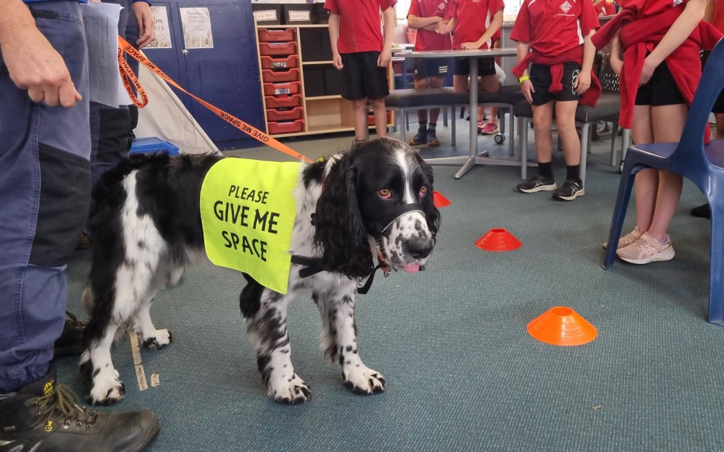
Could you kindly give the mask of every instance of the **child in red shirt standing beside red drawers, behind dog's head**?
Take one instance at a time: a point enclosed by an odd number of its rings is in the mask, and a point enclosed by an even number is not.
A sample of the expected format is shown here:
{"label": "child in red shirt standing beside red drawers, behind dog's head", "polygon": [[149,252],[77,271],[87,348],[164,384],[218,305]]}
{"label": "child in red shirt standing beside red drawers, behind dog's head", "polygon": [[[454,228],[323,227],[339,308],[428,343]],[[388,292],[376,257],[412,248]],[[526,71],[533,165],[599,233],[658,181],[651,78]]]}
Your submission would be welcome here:
{"label": "child in red shirt standing beside red drawers, behind dog's head", "polygon": [[[377,136],[387,135],[384,98],[390,94],[387,65],[392,59],[392,33],[395,31],[397,0],[327,0],[332,65],[342,70],[345,91],[352,101],[355,141],[367,135],[367,101],[374,111]],[[384,20],[384,34],[380,24]]]}

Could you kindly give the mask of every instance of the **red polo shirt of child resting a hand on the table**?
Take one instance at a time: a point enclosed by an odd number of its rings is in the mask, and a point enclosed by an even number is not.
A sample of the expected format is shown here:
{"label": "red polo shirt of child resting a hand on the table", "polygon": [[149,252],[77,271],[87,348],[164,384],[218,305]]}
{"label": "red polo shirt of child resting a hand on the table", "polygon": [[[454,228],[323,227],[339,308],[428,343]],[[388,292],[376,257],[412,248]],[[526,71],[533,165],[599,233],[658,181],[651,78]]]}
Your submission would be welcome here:
{"label": "red polo shirt of child resting a hand on the table", "polygon": [[[502,0],[450,0],[445,19],[455,17],[456,20],[452,48],[458,49],[462,43],[479,40],[490,26],[495,13],[504,7]],[[483,43],[480,48],[490,48],[491,44]]]}

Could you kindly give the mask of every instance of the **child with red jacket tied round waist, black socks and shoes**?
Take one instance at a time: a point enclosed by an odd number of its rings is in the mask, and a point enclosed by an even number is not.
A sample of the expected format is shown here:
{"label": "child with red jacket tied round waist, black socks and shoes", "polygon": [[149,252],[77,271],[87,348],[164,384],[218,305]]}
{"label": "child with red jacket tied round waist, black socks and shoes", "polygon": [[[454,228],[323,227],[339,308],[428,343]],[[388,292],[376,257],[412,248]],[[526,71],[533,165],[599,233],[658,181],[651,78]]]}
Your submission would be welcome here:
{"label": "child with red jacket tied round waist, black socks and shoes", "polygon": [[[592,84],[596,48],[591,36],[598,26],[591,1],[523,0],[510,33],[510,39],[518,41],[518,66],[513,74],[533,108],[538,174],[518,184],[520,192],[552,191],[554,199],[565,201],[585,194],[579,172],[581,140],[576,132],[576,108]],[[598,93],[599,89],[597,93],[591,90],[588,97],[595,99],[587,102],[595,105]],[[561,187],[555,184],[551,168],[554,108],[566,166]]]}

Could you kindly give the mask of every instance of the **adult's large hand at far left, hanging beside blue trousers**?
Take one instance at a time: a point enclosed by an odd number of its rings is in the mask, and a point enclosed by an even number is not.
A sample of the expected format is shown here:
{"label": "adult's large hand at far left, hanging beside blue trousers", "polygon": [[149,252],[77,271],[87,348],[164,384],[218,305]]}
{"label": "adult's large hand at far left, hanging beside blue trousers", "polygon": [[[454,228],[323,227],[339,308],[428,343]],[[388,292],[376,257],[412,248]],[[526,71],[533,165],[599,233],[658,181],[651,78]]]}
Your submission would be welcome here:
{"label": "adult's large hand at far left, hanging beside blue trousers", "polygon": [[0,52],[18,88],[33,102],[70,107],[82,98],[63,57],[35,27],[17,27],[0,41]]}

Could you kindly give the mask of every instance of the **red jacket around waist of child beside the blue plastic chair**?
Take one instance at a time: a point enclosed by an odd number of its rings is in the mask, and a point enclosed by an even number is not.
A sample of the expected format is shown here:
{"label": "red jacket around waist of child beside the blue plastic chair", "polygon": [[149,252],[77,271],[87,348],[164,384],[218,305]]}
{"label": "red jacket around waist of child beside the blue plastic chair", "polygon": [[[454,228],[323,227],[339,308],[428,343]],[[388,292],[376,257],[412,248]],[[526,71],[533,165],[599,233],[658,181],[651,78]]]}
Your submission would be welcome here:
{"label": "red jacket around waist of child beside the blue plastic chair", "polygon": [[[666,1],[668,3],[668,1]],[[641,69],[644,59],[654,50],[673,22],[683,12],[685,4],[663,9],[662,0],[633,0],[627,3],[618,14],[594,35],[592,41],[596,48],[603,48],[620,30],[619,38],[623,48],[623,69],[620,73],[621,112],[618,124],[631,129],[633,105],[639,90]],[[702,77],[702,64],[699,50],[711,49],[722,37],[708,22],[699,22],[689,38],[681,43],[665,60],[671,75],[686,103],[691,106],[694,100],[699,78]],[[707,124],[706,140],[709,127]]]}

